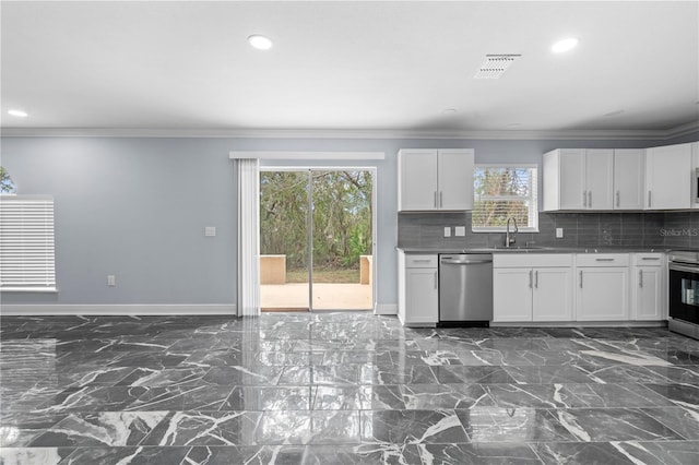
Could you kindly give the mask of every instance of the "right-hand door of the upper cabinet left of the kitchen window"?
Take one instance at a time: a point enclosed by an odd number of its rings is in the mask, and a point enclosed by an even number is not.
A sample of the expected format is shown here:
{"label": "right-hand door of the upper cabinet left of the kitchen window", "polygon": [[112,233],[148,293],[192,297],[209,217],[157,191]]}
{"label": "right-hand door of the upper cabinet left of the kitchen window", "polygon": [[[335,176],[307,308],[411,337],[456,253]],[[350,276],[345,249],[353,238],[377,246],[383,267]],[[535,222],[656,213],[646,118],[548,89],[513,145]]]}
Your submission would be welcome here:
{"label": "right-hand door of the upper cabinet left of the kitchen window", "polygon": [[438,151],[438,205],[440,210],[473,210],[472,150]]}

